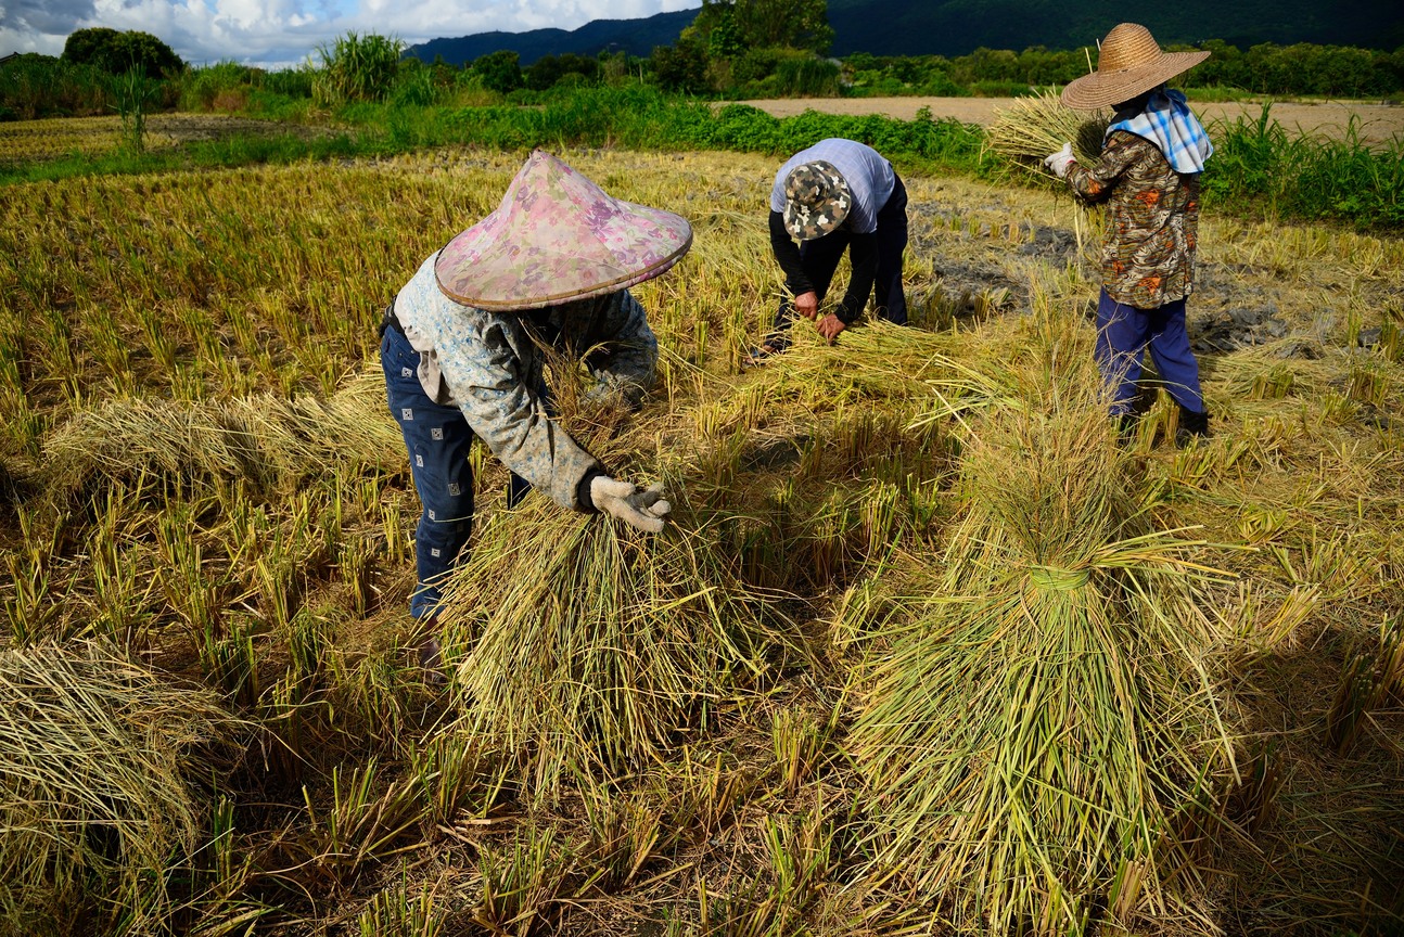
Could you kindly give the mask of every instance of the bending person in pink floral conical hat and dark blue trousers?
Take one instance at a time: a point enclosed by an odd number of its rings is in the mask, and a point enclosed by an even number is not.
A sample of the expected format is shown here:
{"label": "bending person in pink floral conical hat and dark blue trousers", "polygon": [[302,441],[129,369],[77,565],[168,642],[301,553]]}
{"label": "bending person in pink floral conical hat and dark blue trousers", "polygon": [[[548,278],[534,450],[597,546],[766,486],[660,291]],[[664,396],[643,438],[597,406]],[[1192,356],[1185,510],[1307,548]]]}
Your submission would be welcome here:
{"label": "bending person in pink floral conical hat and dark blue trousers", "polygon": [[[473,438],[511,470],[508,505],[538,488],[562,508],[657,533],[658,487],[615,478],[552,418],[550,349],[584,353],[601,401],[637,407],[658,345],[629,286],[671,268],[692,229],[671,212],[607,195],[535,151],[497,209],[431,254],[385,310],[380,363],[423,513],[410,614],[428,619],[468,546]],[[438,642],[420,648],[438,679]]]}

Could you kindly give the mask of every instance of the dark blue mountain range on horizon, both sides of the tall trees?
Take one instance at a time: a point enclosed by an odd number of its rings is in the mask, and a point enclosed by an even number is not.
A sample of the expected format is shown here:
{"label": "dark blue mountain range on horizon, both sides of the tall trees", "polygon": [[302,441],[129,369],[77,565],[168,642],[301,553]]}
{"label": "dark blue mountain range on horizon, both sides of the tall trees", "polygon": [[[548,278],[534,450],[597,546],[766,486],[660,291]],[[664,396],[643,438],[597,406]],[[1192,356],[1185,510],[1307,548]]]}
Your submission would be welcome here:
{"label": "dark blue mountain range on horizon, both sides of the tall trees", "polygon": [[[479,32],[431,39],[409,55],[462,65],[512,49],[522,65],[546,55],[625,49],[646,56],[673,45],[696,10],[660,13],[646,20],[595,20],[578,29]],[[834,55],[958,56],[980,46],[1021,50],[1043,45],[1077,49],[1095,45],[1118,22],[1150,27],[1161,45],[1224,39],[1240,48],[1259,42],[1317,42],[1396,49],[1404,45],[1404,4],[1398,0],[1178,0],[1127,11],[1120,0],[828,0]]]}

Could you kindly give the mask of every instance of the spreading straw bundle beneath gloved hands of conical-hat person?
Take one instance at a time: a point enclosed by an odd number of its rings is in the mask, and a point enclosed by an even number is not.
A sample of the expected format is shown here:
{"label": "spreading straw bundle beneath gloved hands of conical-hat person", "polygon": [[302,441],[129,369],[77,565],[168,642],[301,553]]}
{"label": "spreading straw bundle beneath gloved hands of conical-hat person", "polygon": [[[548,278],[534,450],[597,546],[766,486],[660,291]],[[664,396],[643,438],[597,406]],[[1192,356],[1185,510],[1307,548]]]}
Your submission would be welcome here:
{"label": "spreading straw bundle beneath gloved hands of conical-hat person", "polygon": [[682,492],[668,485],[675,506],[657,536],[532,494],[483,525],[445,588],[468,727],[529,750],[538,791],[567,769],[650,763],[793,644],[778,596],[740,579],[719,522],[677,504]]}

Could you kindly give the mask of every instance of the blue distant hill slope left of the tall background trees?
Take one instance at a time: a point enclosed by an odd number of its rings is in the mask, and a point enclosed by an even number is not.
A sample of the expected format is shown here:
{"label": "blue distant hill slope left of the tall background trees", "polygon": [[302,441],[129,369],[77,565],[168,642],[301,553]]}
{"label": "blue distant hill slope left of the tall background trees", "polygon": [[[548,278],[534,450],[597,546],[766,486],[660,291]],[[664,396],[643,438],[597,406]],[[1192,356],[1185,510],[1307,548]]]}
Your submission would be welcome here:
{"label": "blue distant hill slope left of the tall background trees", "polygon": [[658,45],[673,45],[682,28],[698,15],[696,10],[660,13],[646,20],[592,20],[578,29],[531,29],[528,32],[479,32],[458,39],[430,39],[409,48],[424,62],[442,55],[449,65],[463,65],[489,52],[511,49],[524,66],[548,55],[574,52],[598,55],[602,49],[623,49],[629,55],[647,56]]}

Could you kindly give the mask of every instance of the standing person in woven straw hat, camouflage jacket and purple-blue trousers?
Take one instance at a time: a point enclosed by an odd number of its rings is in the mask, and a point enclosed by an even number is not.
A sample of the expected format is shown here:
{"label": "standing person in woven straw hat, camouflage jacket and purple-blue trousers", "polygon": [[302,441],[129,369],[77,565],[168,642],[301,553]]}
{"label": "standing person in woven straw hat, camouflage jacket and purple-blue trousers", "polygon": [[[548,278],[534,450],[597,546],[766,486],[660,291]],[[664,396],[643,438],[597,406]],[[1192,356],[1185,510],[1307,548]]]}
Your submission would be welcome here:
{"label": "standing person in woven straw hat, camouflage jacket and purple-blue trousers", "polygon": [[1045,163],[1088,202],[1106,202],[1097,360],[1123,436],[1134,428],[1132,400],[1150,349],[1160,379],[1179,405],[1177,443],[1209,432],[1199,363],[1185,331],[1199,229],[1199,174],[1213,153],[1185,95],[1165,81],[1209,58],[1161,52],[1146,27],[1123,22],[1106,34],[1097,72],[1063,88],[1071,108],[1116,109],[1102,156],[1084,167],[1067,143]]}

